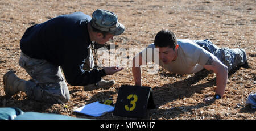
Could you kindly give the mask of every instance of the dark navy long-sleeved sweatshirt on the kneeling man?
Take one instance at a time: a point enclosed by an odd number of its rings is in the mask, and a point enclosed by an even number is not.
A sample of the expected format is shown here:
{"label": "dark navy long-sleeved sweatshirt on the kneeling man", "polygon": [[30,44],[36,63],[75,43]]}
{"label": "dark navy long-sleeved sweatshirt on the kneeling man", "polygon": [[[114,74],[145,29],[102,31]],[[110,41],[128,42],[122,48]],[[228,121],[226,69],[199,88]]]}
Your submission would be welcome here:
{"label": "dark navy long-sleeved sweatshirt on the kneeling man", "polygon": [[106,75],[104,69],[82,69],[92,43],[87,29],[91,19],[89,15],[75,12],[31,26],[20,40],[20,49],[31,58],[61,66],[72,86],[96,83]]}

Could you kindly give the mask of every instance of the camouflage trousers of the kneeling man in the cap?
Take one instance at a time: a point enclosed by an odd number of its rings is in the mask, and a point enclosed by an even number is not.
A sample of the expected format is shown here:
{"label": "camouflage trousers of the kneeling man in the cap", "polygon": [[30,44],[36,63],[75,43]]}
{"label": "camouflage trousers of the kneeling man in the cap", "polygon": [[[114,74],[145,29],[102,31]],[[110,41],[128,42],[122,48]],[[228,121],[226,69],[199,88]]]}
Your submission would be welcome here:
{"label": "camouflage trousers of the kneeling man in the cap", "polygon": [[[46,103],[68,102],[69,90],[61,72],[61,67],[46,60],[28,57],[21,53],[19,65],[23,67],[32,79],[26,82],[28,98]],[[94,66],[92,50],[89,48],[88,57],[84,67],[90,69]]]}

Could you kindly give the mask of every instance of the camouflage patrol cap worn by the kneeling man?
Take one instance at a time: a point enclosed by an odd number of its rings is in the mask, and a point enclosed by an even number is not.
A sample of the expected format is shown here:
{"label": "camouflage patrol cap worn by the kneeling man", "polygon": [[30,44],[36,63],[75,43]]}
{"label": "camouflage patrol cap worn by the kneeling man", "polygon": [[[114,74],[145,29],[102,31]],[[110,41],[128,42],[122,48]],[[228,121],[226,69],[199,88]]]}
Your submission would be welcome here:
{"label": "camouflage patrol cap worn by the kneeling man", "polygon": [[125,26],[118,22],[118,16],[108,10],[97,9],[92,14],[92,26],[100,31],[121,35],[125,31]]}

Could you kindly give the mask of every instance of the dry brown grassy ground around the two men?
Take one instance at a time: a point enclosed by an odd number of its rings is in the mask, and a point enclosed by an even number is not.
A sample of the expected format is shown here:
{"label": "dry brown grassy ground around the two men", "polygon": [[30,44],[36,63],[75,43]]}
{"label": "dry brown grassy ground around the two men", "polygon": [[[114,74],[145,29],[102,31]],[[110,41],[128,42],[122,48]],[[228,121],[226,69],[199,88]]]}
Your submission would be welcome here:
{"label": "dry brown grassy ground around the two men", "polygon": [[0,1],[0,107],[18,107],[23,111],[58,113],[90,119],[134,119],[106,113],[90,117],[73,112],[82,105],[113,98],[117,100],[119,87],[134,85],[131,68],[104,79],[114,79],[112,88],[84,91],[83,87],[70,86],[71,100],[65,104],[47,104],[28,99],[20,92],[5,97],[3,75],[15,70],[22,79],[30,79],[19,66],[19,41],[24,31],[33,24],[42,23],[62,14],[81,11],[91,15],[96,9],[106,9],[119,16],[126,27],[123,35],[116,36],[118,48],[143,48],[153,43],[156,33],[170,29],[179,39],[209,39],[218,47],[246,50],[249,69],[240,68],[229,76],[225,95],[213,103],[203,99],[213,96],[216,75],[201,72],[189,75],[168,73],[162,68],[156,74],[143,68],[144,86],[152,87],[156,109],[146,112],[143,119],[256,119],[255,111],[245,101],[256,92],[256,1]]}

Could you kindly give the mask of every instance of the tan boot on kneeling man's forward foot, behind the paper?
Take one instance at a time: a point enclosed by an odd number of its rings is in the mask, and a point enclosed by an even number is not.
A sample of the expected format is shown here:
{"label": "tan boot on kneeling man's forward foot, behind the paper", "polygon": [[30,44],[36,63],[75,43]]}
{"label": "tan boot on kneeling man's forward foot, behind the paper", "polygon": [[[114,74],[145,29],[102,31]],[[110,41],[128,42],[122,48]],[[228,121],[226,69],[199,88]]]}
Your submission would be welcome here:
{"label": "tan boot on kneeling man's forward foot, behind the paper", "polygon": [[91,90],[96,90],[98,88],[110,88],[114,85],[114,83],[115,83],[114,80],[110,80],[110,81],[101,80],[97,83],[89,84],[87,86],[84,86],[84,90],[85,91],[91,91]]}

